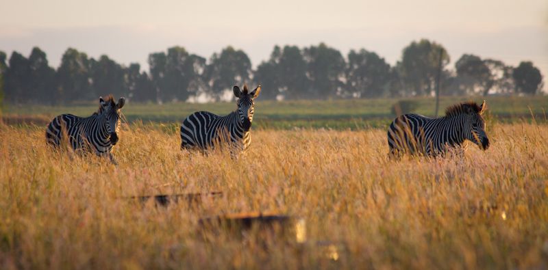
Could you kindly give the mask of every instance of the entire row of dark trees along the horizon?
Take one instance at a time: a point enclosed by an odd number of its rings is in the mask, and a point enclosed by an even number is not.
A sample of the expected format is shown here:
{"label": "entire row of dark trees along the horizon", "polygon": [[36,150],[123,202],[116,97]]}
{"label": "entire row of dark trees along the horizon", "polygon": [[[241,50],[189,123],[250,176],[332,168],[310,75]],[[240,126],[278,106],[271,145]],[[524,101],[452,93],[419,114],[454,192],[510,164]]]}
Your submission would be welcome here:
{"label": "entire row of dark trees along the horizon", "polygon": [[[135,102],[223,100],[235,84],[262,85],[261,99],[299,100],[433,96],[538,94],[543,76],[532,62],[512,67],[496,59],[462,55],[449,67],[445,48],[436,42],[411,42],[394,66],[377,53],[360,49],[346,55],[321,43],[299,48],[274,46],[255,70],[242,50],[232,46],[209,60],[180,46],[150,53],[149,70],[124,66],[107,55],[99,59],[69,48],[55,70],[46,53],[34,47],[29,57],[0,51],[0,89],[12,104],[62,105],[114,94]],[[438,72],[441,64],[441,73]],[[440,73],[440,74],[439,74]],[[228,95],[229,96],[229,95]],[[230,96],[232,98],[232,96]]]}

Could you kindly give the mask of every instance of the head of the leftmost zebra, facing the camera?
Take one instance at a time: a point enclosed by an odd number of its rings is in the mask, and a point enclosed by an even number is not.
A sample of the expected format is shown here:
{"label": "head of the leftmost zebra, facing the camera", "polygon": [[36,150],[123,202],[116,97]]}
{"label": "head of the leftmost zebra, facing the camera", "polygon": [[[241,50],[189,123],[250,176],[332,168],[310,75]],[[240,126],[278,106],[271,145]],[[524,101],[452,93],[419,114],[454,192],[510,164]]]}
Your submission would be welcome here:
{"label": "head of the leftmost zebra, facing the camera", "polygon": [[108,96],[107,100],[103,97],[99,98],[98,114],[104,117],[104,123],[107,132],[110,134],[110,144],[113,146],[118,142],[118,131],[120,131],[120,109],[124,107],[125,99],[120,98],[118,104],[114,102],[112,95]]}

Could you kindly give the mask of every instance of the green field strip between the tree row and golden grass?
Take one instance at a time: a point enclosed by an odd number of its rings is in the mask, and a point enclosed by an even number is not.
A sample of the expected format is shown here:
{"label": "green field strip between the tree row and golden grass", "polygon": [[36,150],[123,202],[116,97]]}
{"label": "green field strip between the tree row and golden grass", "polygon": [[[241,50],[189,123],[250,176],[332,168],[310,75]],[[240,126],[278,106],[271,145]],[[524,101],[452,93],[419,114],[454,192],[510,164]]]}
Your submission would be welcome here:
{"label": "green field strip between the tree row and golden grass", "polygon": [[[434,117],[435,98],[376,98],[347,100],[256,100],[254,129],[353,129],[386,128],[396,117],[392,107],[400,100],[410,101],[416,109],[410,112]],[[451,96],[441,97],[438,115],[456,103],[486,100],[490,116],[499,122],[546,119],[548,96]],[[87,117],[97,111],[98,100],[66,106],[17,105],[5,108],[5,124],[46,125],[55,116],[72,113]],[[121,110],[126,123],[167,124],[177,126],[195,111],[210,111],[225,116],[236,109],[236,101],[222,103],[131,103]]]}

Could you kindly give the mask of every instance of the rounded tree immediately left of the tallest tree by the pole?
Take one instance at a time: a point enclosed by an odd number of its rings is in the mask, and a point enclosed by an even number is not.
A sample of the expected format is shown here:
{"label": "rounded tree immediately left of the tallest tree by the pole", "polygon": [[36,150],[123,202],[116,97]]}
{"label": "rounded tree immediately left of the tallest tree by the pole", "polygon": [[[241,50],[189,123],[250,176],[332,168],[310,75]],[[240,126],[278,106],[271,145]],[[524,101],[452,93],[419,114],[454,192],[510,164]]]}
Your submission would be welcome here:
{"label": "rounded tree immediately left of the tallest tree by the pole", "polygon": [[346,90],[351,96],[373,98],[382,96],[386,85],[393,79],[390,65],[376,53],[361,49],[348,53],[345,71]]}

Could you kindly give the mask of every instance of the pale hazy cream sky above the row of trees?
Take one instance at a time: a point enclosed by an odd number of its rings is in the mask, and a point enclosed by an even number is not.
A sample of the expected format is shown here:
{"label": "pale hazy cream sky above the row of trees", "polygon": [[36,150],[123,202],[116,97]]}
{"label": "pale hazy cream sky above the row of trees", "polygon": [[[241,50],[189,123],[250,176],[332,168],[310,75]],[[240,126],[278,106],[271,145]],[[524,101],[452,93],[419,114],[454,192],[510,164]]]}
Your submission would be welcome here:
{"label": "pale hazy cream sky above the row of trees", "polygon": [[38,46],[55,68],[69,47],[148,70],[149,53],[171,46],[209,59],[232,45],[256,67],[275,44],[319,42],[343,55],[364,48],[395,64],[405,46],[427,38],[445,46],[450,68],[471,53],[513,66],[532,61],[548,78],[546,0],[0,0],[0,6],[0,51],[28,57]]}

